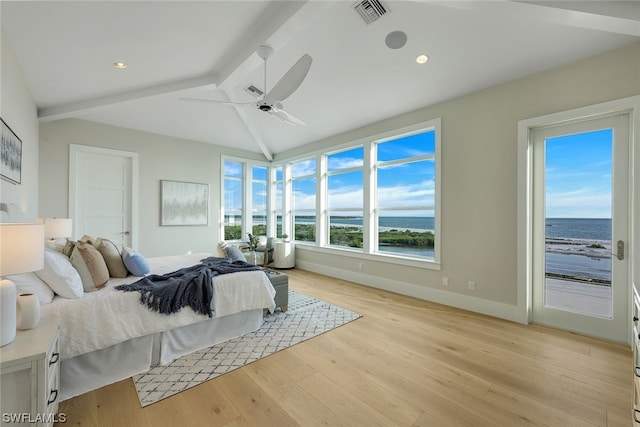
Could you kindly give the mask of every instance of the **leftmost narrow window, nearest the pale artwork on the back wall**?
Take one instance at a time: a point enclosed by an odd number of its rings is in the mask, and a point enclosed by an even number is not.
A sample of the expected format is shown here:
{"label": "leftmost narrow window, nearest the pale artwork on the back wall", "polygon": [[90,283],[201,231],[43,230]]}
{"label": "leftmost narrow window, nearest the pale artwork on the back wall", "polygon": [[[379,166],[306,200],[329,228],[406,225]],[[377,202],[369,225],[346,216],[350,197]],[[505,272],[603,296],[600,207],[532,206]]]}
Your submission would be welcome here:
{"label": "leftmost narrow window, nearest the pale artwork on the back wall", "polygon": [[242,238],[244,200],[244,164],[225,160],[224,169],[224,240]]}

